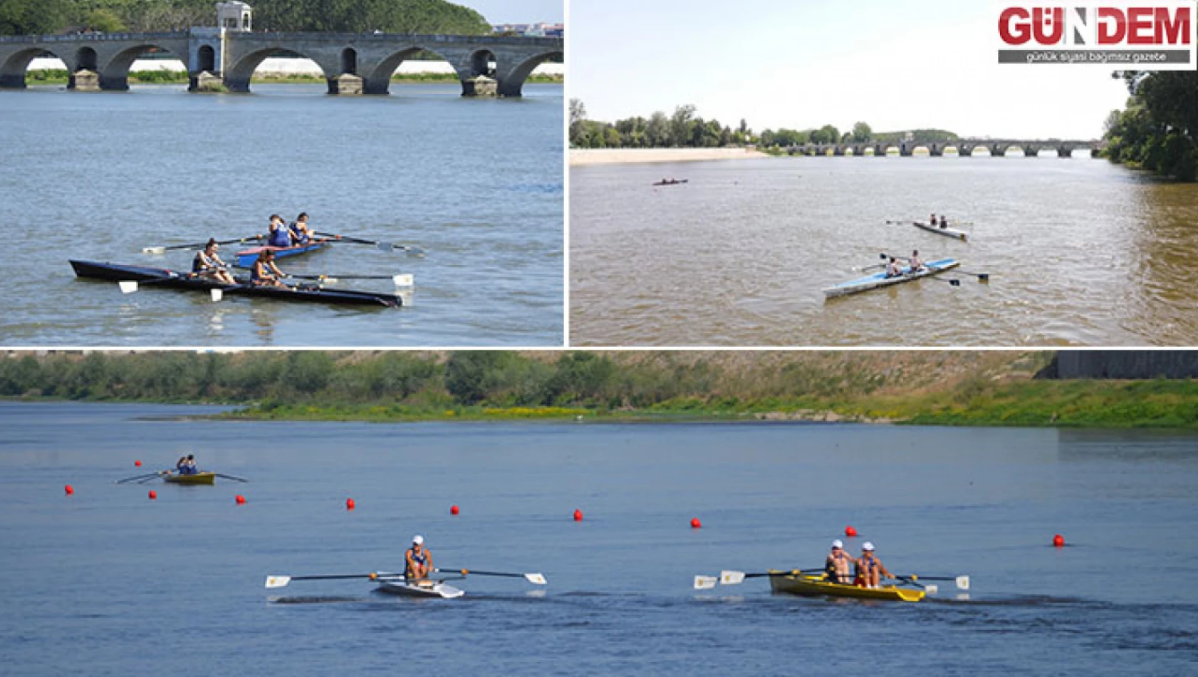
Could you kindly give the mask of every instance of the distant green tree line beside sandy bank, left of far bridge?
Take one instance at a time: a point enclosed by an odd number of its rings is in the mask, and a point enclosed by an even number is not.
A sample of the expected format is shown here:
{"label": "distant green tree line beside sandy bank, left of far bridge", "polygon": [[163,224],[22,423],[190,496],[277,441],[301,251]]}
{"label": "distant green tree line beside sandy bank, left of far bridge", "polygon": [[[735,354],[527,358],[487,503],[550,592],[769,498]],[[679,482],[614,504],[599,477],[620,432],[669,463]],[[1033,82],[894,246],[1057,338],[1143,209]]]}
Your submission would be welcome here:
{"label": "distant green tree line beside sandy bank, left of far bridge", "polygon": [[754,133],[744,119],[736,127],[714,119],[703,120],[696,115],[696,108],[691,104],[674,108],[672,115],[659,110],[647,119],[636,116],[616,122],[598,122],[587,119],[586,105],[581,101],[570,99],[570,146],[577,149],[714,149],[746,145],[778,149],[803,144],[893,143],[903,140],[908,133],[916,143],[957,138],[945,129],[875,132],[866,122],[858,122],[846,132],[834,125],[824,125],[818,129],[780,128],[766,129],[758,134]]}

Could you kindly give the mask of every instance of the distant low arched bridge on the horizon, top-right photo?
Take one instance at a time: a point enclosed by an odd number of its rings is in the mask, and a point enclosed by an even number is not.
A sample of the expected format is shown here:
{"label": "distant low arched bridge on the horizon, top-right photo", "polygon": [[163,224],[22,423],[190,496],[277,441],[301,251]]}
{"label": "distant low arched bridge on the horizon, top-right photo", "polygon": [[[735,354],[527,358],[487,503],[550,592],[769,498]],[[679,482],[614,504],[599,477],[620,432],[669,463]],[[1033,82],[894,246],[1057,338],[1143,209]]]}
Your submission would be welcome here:
{"label": "distant low arched bridge on the horizon, top-right photo", "polygon": [[1096,155],[1106,147],[1106,141],[1091,140],[1061,140],[1061,139],[932,139],[912,141],[869,141],[869,143],[842,143],[842,144],[799,144],[787,147],[791,155],[807,156],[885,156],[890,151],[897,151],[902,157],[922,155],[925,151],[932,157],[944,155],[972,156],[975,151],[982,150],[980,155],[1002,157],[1011,149],[1019,149],[1025,157],[1036,157],[1042,149],[1057,151],[1058,157],[1072,157],[1073,149],[1088,149],[1090,155]]}

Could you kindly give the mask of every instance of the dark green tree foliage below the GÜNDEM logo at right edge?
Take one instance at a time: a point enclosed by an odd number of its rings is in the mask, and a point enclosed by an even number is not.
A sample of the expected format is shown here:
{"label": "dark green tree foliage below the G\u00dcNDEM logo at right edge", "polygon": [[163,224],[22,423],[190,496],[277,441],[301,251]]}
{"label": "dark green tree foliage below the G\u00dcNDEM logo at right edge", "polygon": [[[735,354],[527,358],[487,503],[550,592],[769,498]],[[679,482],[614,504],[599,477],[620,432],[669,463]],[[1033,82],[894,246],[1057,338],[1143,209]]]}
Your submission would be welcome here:
{"label": "dark green tree foliage below the G\u00dcNDEM logo at right edge", "polygon": [[1107,157],[1179,181],[1198,180],[1198,71],[1115,73],[1127,108],[1107,116]]}

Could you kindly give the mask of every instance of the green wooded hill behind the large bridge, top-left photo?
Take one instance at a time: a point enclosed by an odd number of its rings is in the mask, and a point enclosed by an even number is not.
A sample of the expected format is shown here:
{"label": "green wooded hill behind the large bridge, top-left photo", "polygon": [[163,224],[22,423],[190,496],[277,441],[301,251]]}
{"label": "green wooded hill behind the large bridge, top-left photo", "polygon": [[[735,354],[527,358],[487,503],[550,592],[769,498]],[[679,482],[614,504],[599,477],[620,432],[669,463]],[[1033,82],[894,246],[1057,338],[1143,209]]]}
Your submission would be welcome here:
{"label": "green wooded hill behind the large bridge, top-left photo", "polygon": [[[444,0],[255,0],[252,6],[254,30],[491,31],[482,14]],[[216,19],[212,0],[0,0],[0,35],[170,31],[213,26]]]}

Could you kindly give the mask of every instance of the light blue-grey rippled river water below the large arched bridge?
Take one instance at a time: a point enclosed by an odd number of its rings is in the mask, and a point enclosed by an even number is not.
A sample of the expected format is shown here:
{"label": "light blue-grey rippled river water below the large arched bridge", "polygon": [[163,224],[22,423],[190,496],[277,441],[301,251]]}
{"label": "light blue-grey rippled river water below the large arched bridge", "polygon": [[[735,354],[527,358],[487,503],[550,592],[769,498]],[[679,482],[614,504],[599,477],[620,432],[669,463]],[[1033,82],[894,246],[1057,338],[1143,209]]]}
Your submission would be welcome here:
{"label": "light blue-grey rippled river water below the large arched bridge", "polygon": [[[436,346],[562,344],[562,86],[466,99],[456,84],[329,97],[61,87],[0,91],[6,294],[0,344]],[[77,280],[67,259],[189,268],[141,248],[265,232],[267,217],[411,243],[339,244],[298,274],[413,273],[410,308],[361,309]],[[229,259],[237,247],[226,246]],[[343,283],[388,290],[389,283]]]}

